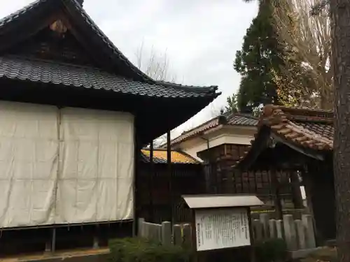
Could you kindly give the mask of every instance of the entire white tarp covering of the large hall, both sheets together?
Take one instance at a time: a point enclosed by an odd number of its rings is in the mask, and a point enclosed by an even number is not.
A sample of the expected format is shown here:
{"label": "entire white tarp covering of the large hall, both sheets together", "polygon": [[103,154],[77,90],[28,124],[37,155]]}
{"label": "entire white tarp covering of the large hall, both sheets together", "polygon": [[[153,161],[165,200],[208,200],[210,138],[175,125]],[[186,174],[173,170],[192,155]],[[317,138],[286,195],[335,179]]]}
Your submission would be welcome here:
{"label": "entire white tarp covering of the large hall, both sheets together", "polygon": [[0,101],[0,228],[132,219],[133,122]]}

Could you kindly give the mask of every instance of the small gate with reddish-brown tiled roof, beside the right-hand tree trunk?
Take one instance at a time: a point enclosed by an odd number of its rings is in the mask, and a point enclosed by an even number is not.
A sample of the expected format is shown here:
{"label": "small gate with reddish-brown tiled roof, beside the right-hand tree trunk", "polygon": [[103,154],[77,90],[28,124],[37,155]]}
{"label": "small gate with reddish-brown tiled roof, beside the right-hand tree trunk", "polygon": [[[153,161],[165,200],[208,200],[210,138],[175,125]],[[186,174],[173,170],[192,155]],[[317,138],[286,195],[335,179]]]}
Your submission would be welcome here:
{"label": "small gate with reddish-brown tiled roof, beside the right-hand tree trunk", "polygon": [[[305,211],[314,216],[316,242],[323,245],[324,240],[336,236],[333,112],[279,105],[265,105],[262,112],[255,140],[235,168],[298,171],[306,193]],[[293,183],[296,184],[295,181]],[[276,184],[278,206],[280,192]],[[300,187],[293,187],[295,196],[297,189],[300,190]]]}

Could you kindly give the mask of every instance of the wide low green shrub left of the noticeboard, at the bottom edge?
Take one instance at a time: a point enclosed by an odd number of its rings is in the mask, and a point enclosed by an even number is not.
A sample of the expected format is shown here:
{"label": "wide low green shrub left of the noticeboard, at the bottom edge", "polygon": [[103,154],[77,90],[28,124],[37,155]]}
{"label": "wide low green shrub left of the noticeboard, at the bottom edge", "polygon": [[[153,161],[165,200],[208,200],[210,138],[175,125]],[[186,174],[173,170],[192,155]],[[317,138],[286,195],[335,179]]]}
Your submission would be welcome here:
{"label": "wide low green shrub left of the noticeboard, at the bottom edge", "polygon": [[111,262],[188,262],[190,249],[164,246],[141,238],[123,238],[109,242]]}

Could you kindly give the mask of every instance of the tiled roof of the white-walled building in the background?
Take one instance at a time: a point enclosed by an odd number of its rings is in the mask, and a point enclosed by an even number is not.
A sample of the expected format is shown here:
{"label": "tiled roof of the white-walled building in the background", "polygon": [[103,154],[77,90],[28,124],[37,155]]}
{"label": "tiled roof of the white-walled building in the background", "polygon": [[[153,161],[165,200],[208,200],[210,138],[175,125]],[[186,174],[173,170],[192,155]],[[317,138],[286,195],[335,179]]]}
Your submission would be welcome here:
{"label": "tiled roof of the white-walled building in the background", "polygon": [[[203,124],[200,124],[200,126],[196,126],[194,129],[190,129],[189,131],[185,131],[181,134],[181,136],[178,136],[177,138],[174,138],[171,141],[171,145],[175,145],[176,143],[180,143],[183,140],[186,140],[188,138],[193,138],[194,136],[197,136],[198,134],[208,131],[209,129],[214,129],[217,126],[220,125],[229,125],[229,126],[256,126],[258,124],[258,119],[255,117],[251,117],[248,115],[243,114],[231,114],[228,116],[219,116],[214,117],[213,119],[210,119],[207,122],[204,122]],[[162,147],[166,147],[167,145],[162,145]]]}

